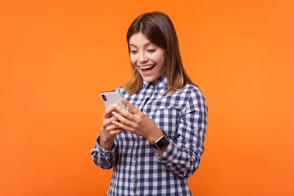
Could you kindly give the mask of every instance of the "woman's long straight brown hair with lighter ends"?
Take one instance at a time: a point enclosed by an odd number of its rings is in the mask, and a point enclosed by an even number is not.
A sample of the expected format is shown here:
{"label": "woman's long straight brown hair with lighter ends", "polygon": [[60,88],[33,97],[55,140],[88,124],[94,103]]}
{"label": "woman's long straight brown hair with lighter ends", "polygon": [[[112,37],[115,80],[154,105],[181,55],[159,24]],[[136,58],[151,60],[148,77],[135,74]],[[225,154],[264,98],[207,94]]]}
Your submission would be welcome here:
{"label": "woman's long straight brown hair with lighter ends", "polygon": [[[138,32],[141,32],[153,44],[166,50],[165,66],[169,90],[164,94],[183,90],[186,84],[197,86],[183,67],[176,32],[171,19],[166,14],[150,12],[140,15],[134,20],[126,33],[129,53],[130,37]],[[131,77],[123,87],[130,95],[140,91],[143,85],[141,74],[134,65],[131,66]]]}

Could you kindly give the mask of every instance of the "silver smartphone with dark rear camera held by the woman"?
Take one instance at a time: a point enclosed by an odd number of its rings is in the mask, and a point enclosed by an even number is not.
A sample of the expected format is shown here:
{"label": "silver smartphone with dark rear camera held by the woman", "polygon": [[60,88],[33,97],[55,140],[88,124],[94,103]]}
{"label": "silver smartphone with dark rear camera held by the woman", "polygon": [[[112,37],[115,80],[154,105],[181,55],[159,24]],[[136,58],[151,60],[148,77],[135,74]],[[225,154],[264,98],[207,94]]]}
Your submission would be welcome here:
{"label": "silver smartphone with dark rear camera held by the woman", "polygon": [[[118,104],[121,108],[127,110],[126,106],[122,103],[121,99],[122,94],[119,91],[105,91],[101,92],[100,96],[105,105],[105,108],[108,108],[114,104]],[[116,111],[118,112],[118,111]],[[119,113],[119,112],[118,112]]]}

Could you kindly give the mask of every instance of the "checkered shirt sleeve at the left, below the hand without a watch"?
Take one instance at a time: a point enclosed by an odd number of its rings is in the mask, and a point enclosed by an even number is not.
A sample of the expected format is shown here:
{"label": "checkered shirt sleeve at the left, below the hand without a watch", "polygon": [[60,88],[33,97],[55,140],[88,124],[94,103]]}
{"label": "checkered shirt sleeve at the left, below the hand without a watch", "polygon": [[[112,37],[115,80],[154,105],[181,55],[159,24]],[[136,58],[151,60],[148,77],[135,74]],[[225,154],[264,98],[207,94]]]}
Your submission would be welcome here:
{"label": "checkered shirt sleeve at the left, below the hand without a watch", "polygon": [[109,170],[113,168],[116,163],[116,146],[117,142],[114,140],[114,148],[110,150],[106,150],[103,147],[100,147],[98,144],[99,141],[98,136],[95,146],[91,150],[91,157],[94,163],[104,170]]}

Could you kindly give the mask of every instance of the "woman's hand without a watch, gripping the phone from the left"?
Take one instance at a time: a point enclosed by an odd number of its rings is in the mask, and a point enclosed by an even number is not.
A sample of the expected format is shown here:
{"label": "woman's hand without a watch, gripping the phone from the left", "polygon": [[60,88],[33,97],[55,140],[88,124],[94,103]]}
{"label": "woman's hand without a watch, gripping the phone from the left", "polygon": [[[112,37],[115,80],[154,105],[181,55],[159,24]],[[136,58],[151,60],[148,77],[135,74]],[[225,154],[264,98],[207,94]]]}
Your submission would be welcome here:
{"label": "woman's hand without a watch, gripping the phone from the left", "polygon": [[110,106],[104,111],[102,118],[102,130],[99,138],[99,145],[104,149],[113,149],[114,141],[113,139],[125,129],[119,128],[119,126],[113,124],[112,122],[117,122],[118,119],[110,114],[115,110],[114,106]]}

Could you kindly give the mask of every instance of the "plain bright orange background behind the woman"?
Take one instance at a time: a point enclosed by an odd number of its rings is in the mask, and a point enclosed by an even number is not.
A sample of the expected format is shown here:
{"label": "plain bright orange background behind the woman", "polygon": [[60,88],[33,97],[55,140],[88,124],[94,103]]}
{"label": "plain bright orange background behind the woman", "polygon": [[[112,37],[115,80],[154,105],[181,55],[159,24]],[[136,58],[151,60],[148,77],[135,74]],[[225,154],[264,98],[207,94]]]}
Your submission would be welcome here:
{"label": "plain bright orange background behind the woman", "polygon": [[99,93],[129,77],[126,31],[154,10],[209,107],[194,195],[294,195],[292,0],[1,0],[1,196],[106,195]]}

